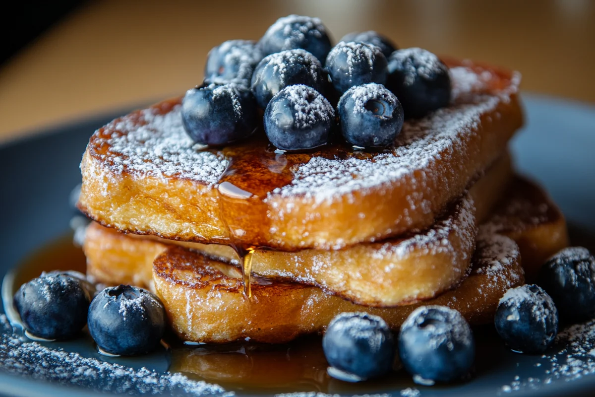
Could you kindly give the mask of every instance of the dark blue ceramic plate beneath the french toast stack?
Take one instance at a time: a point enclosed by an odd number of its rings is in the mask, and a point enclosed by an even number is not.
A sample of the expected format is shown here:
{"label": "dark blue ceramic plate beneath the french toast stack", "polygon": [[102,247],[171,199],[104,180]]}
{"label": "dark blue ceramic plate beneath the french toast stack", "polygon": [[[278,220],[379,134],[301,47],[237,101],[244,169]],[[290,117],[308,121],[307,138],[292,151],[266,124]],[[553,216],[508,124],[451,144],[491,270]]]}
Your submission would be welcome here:
{"label": "dark blue ceramic plate beneath the french toast stack", "polygon": [[[513,143],[517,168],[541,182],[559,203],[572,226],[573,242],[593,246],[595,107],[542,96],[525,95],[524,99],[527,127]],[[118,115],[81,121],[0,147],[0,276],[44,243],[68,233],[73,215],[68,195],[80,182],[79,162],[87,140],[93,130]],[[10,283],[5,282],[7,285]],[[0,393],[4,395],[64,397],[101,390],[196,395],[221,391],[168,373],[170,354],[165,349],[146,357],[105,358],[84,337],[61,343],[27,342],[28,349],[17,349],[18,330],[12,330],[5,317],[1,320]],[[477,330],[476,337],[477,371],[470,382],[422,387],[400,374],[403,380],[398,385],[373,385],[370,390],[343,385],[328,391],[396,396],[571,396],[595,390],[595,331],[593,335],[583,332],[571,348],[556,346],[546,357],[514,354],[490,329]]]}

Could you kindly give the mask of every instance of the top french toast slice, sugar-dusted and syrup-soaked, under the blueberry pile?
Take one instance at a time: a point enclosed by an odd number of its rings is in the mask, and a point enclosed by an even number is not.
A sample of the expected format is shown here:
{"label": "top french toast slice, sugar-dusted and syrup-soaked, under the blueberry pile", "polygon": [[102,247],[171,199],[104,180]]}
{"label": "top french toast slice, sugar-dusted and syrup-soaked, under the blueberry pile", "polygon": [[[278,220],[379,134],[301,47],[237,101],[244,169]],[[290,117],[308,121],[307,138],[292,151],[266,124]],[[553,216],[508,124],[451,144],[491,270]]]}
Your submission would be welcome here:
{"label": "top french toast slice, sugar-dusted and syrup-soaked, under the blueberry pile", "polygon": [[104,226],[226,245],[337,249],[424,230],[504,151],[522,124],[519,76],[448,61],[449,107],[406,121],[394,148],[276,154],[249,142],[203,148],[180,99],[97,130],[79,208]]}

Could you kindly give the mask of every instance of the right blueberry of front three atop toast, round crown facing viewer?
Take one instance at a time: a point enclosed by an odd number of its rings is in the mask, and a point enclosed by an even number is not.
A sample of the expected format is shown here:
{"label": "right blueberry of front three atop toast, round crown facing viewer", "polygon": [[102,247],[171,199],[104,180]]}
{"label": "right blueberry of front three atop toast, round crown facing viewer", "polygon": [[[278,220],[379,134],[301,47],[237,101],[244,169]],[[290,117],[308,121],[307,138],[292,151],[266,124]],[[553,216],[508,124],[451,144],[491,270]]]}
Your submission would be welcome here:
{"label": "right blueberry of front three atop toast, round crown facing viewer", "polygon": [[337,112],[345,140],[363,148],[390,145],[403,127],[399,100],[376,83],[348,89],[339,99]]}

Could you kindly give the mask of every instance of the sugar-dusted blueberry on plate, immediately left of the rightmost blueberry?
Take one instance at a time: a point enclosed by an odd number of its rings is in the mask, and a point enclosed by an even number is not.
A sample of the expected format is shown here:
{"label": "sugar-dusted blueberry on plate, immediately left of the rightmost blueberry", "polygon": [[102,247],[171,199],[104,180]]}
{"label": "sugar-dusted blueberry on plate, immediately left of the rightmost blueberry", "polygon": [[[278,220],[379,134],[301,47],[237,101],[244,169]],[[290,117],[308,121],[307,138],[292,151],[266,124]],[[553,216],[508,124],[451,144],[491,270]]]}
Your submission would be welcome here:
{"label": "sugar-dusted blueberry on plate, immediately left of the rightmost blueberry", "polygon": [[558,333],[558,310],[541,287],[523,285],[502,296],[494,324],[512,350],[541,353]]}

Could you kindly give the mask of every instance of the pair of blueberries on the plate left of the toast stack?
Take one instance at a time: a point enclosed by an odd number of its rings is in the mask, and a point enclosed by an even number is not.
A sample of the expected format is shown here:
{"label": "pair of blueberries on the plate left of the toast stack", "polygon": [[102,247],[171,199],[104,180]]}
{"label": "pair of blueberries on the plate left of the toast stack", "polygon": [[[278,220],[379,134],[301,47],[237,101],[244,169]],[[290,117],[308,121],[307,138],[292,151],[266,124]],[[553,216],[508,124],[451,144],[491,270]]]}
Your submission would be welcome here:
{"label": "pair of blueberries on the plate left of the toast stack", "polygon": [[30,337],[71,339],[87,325],[104,354],[150,352],[165,332],[165,308],[151,292],[129,285],[98,292],[72,271],[43,273],[24,283],[13,302]]}

